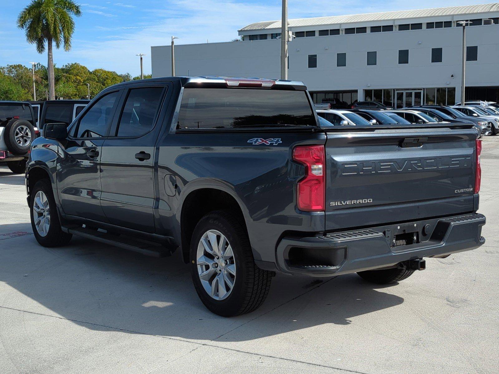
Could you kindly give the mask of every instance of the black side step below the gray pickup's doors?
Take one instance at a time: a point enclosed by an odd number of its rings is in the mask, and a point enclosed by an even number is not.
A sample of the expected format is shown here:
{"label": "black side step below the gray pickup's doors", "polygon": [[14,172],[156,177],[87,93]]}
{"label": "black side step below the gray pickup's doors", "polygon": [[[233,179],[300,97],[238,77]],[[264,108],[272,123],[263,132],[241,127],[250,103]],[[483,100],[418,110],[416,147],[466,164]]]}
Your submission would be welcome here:
{"label": "black side step below the gray pickup's doors", "polygon": [[151,257],[168,257],[171,252],[161,244],[149,241],[137,240],[134,237],[126,235],[116,235],[104,231],[98,231],[86,227],[62,227],[62,230],[73,235],[82,236],[87,239],[100,241],[104,244],[113,245],[127,249],[129,251],[142,253]]}

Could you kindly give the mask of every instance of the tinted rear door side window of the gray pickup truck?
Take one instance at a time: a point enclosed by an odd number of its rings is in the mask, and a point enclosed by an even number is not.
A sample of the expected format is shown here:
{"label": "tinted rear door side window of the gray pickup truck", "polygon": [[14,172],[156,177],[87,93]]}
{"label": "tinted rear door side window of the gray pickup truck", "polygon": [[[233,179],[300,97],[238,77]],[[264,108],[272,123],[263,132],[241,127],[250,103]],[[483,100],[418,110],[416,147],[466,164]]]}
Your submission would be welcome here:
{"label": "tinted rear door side window of the gray pickup truck", "polygon": [[152,130],[163,87],[133,88],[123,107],[117,136],[141,136]]}

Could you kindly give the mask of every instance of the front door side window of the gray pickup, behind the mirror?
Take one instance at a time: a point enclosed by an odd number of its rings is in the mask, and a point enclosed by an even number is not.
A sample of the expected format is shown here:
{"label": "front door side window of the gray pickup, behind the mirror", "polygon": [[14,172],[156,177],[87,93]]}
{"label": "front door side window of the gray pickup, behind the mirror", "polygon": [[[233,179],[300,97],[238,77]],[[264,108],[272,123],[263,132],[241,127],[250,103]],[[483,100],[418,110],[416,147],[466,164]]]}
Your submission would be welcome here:
{"label": "front door side window of the gray pickup, behind the mirror", "polygon": [[105,136],[113,120],[114,110],[121,92],[115,91],[102,96],[81,117],[76,127],[76,138],[96,138]]}

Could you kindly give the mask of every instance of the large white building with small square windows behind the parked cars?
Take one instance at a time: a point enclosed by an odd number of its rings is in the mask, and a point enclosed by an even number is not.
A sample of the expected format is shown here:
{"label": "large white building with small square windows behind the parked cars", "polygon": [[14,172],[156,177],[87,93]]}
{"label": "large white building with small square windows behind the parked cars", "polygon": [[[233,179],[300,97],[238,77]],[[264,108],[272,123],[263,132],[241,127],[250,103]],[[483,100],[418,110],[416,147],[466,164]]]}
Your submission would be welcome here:
{"label": "large white building with small square windows behind the parked cars", "polygon": [[[289,20],[289,79],[314,101],[454,104],[461,101],[462,27],[467,99],[499,102],[499,3]],[[278,78],[280,20],[239,30],[241,42],[175,46],[177,75]],[[152,75],[171,75],[171,47],[151,47]]]}

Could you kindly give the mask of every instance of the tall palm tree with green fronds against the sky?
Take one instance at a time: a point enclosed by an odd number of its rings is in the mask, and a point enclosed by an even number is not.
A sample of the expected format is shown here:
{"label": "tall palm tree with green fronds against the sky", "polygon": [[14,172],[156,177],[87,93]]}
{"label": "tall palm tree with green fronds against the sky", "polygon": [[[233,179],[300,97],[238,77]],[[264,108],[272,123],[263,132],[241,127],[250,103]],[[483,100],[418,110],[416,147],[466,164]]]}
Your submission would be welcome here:
{"label": "tall palm tree with green fronds against the sky", "polygon": [[47,76],[48,96],[55,99],[54,61],[52,42],[55,47],[64,46],[67,52],[71,49],[71,37],[74,32],[74,21],[71,15],[81,15],[80,5],[73,0],[32,0],[17,16],[17,27],[26,32],[26,40],[36,44],[36,51],[45,51],[47,44]]}

